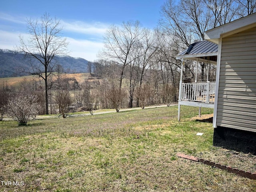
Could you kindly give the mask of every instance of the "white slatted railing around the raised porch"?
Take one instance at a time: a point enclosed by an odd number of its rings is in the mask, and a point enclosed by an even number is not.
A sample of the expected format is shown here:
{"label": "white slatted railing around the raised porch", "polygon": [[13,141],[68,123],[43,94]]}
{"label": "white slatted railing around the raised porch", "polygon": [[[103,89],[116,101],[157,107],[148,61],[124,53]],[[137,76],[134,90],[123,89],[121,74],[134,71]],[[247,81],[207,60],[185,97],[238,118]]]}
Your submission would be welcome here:
{"label": "white slatted railing around the raised porch", "polygon": [[179,100],[214,103],[216,82],[182,83]]}

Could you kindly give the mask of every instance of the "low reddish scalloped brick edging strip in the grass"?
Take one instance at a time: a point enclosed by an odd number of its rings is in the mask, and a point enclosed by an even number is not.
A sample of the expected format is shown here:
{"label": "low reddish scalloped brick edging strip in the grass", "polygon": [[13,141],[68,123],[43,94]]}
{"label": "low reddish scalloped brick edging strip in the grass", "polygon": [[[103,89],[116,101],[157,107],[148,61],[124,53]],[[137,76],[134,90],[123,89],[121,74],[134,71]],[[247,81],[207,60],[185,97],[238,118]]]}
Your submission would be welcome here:
{"label": "low reddish scalloped brick edging strip in the grass", "polygon": [[191,156],[191,155],[186,155],[186,154],[183,154],[183,153],[177,153],[176,155],[178,157],[186,158],[186,159],[196,161],[196,162],[201,162],[203,164],[210,165],[212,167],[214,166],[214,167],[217,167],[219,169],[226,170],[230,173],[240,175],[242,177],[246,177],[246,178],[249,178],[249,179],[256,180],[256,173],[251,173],[251,172],[248,172],[248,171],[245,172],[244,170],[238,170],[238,169],[232,168],[230,166],[221,165],[221,164],[218,164],[218,163],[215,163],[215,162],[212,162],[212,161],[204,160],[202,158],[194,157],[194,156]]}

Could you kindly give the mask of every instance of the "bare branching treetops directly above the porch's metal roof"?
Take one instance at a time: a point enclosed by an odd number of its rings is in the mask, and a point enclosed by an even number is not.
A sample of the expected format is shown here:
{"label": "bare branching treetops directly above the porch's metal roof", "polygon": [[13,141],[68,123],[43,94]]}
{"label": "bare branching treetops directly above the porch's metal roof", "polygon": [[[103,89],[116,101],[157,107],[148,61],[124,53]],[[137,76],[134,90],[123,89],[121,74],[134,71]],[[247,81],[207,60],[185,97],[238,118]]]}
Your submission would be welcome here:
{"label": "bare branching treetops directly above the porch's metal roof", "polygon": [[167,0],[161,8],[160,26],[185,46],[204,40],[204,32],[241,16],[235,0]]}

